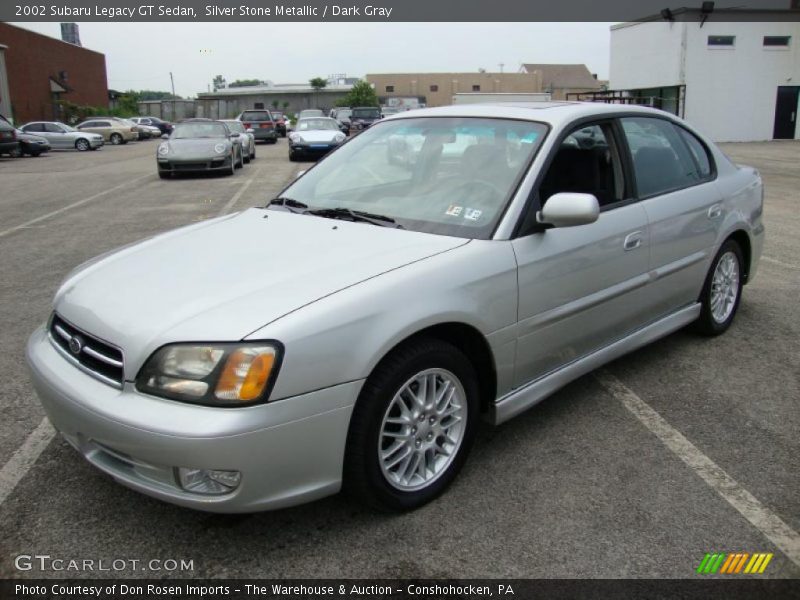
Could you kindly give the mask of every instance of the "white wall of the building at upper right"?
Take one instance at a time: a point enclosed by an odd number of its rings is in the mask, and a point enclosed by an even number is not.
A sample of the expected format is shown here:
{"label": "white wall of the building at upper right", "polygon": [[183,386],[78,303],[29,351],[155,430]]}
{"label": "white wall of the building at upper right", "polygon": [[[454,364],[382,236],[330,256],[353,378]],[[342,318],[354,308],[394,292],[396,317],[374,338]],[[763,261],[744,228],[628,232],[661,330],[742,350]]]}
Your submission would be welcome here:
{"label": "white wall of the building at upper right", "polygon": [[[734,35],[736,43],[709,47],[709,35]],[[792,40],[765,48],[767,35]],[[800,85],[800,23],[626,24],[612,28],[610,69],[612,90],[685,84],[686,120],[716,141],[769,140],[778,86]]]}

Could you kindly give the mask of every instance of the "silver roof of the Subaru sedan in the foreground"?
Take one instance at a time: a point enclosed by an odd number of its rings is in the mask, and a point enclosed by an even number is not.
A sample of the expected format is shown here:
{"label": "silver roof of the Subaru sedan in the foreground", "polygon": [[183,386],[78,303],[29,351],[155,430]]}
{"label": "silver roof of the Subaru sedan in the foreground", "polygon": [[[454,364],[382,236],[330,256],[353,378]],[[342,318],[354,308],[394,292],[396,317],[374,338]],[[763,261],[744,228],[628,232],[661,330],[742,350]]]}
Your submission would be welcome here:
{"label": "silver roof of the Subaru sedan in the foreground", "polygon": [[408,110],[390,115],[385,120],[413,119],[415,117],[494,117],[539,121],[557,126],[583,117],[602,117],[620,112],[673,116],[655,108],[604,102],[487,102],[485,104],[456,104]]}

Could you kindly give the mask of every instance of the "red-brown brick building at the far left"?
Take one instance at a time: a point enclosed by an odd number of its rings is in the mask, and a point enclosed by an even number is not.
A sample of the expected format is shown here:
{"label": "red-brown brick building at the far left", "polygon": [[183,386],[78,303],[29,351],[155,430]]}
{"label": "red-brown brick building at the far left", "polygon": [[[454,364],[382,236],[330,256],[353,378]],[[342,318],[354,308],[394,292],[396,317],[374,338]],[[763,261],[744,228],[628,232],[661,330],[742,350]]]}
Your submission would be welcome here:
{"label": "red-brown brick building at the far left", "polygon": [[16,123],[60,119],[57,102],[108,106],[105,55],[0,22],[0,47],[8,92],[0,86],[0,107]]}

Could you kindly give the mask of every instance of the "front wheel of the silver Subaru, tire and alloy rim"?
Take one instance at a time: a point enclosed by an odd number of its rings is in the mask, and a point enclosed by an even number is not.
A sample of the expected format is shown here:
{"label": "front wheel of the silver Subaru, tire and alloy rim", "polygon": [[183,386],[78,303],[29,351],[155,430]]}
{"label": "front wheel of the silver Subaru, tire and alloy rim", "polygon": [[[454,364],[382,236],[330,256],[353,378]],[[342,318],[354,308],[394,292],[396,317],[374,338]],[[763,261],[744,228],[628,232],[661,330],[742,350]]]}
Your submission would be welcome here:
{"label": "front wheel of the silver Subaru, tire and alloy rim", "polygon": [[419,339],[385,358],[364,384],[347,437],[344,485],[370,505],[411,510],[450,485],[478,420],[478,385],[455,346]]}

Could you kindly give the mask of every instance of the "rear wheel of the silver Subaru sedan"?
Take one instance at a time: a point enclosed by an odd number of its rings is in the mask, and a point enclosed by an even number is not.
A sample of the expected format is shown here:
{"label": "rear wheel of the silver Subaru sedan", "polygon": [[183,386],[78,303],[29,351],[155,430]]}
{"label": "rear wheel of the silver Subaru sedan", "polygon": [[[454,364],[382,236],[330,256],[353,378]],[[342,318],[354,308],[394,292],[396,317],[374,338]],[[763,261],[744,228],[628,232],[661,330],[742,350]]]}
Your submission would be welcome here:
{"label": "rear wheel of the silver Subaru sedan", "polygon": [[742,298],[742,249],[728,240],[719,249],[700,292],[700,316],[695,329],[704,335],[720,335],[731,326]]}

